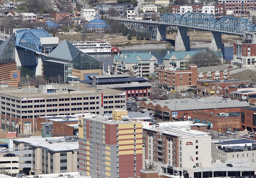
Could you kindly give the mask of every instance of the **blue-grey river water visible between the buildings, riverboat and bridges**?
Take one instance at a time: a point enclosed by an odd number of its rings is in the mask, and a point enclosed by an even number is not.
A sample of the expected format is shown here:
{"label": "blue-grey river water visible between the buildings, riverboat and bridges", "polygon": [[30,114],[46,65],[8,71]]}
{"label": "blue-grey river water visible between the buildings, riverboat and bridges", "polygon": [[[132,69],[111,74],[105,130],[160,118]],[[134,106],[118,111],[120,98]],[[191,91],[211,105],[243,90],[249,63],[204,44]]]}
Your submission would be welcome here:
{"label": "blue-grey river water visible between the buildings, riverboat and bridges", "polygon": [[[190,50],[203,50],[204,48],[191,48]],[[156,50],[123,50],[123,53],[132,53],[132,52],[149,52],[154,55],[158,63],[164,61],[164,56],[167,54],[167,51],[173,52],[174,49],[156,49]],[[90,54],[92,57],[99,59],[104,64],[104,71],[108,70],[108,65],[113,61],[114,55],[117,54]],[[225,59],[231,60],[233,58],[233,47],[225,47]],[[111,65],[110,65],[111,66]],[[35,76],[36,66],[21,66],[17,67],[17,70],[20,70],[21,76],[26,76],[28,73],[30,76]]]}

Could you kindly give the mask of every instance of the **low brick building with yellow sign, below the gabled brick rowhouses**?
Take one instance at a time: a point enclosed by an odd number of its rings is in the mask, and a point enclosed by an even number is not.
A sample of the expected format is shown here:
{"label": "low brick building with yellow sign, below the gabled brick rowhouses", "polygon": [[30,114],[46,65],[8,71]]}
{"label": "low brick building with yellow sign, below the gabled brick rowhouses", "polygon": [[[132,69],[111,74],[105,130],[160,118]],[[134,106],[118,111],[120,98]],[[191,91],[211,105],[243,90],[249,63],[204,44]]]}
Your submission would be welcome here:
{"label": "low brick building with yellow sign, below the gabled brick rowhouses", "polygon": [[224,96],[231,92],[237,91],[239,85],[248,85],[249,81],[241,80],[218,80],[218,81],[196,81],[198,95],[205,97]]}

